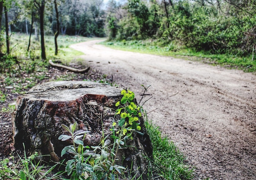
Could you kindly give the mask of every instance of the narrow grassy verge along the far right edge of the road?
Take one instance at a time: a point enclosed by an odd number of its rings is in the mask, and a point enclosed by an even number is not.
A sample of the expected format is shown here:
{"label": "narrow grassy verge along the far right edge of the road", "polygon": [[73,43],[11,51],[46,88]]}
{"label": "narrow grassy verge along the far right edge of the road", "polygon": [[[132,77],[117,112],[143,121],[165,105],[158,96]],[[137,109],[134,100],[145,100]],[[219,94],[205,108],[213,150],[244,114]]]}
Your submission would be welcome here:
{"label": "narrow grassy verge along the far right edge of the road", "polygon": [[162,45],[150,40],[132,40],[120,42],[101,42],[113,49],[133,51],[139,53],[155,54],[160,56],[173,56],[188,60],[202,61],[212,65],[220,65],[232,69],[242,69],[245,72],[256,72],[256,57],[237,57],[228,54],[210,54],[184,49],[175,44]]}

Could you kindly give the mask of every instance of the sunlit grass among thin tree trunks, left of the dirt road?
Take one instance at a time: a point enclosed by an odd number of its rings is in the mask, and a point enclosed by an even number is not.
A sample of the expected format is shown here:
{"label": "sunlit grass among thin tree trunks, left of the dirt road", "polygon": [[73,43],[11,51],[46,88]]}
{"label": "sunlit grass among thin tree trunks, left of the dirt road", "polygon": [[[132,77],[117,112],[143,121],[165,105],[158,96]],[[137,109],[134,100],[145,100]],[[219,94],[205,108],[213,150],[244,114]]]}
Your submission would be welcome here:
{"label": "sunlit grass among thin tree trunks, left of the dirt road", "polygon": [[[48,59],[61,61],[63,64],[78,62],[80,51],[69,48],[71,44],[93,40],[80,36],[59,36],[58,55],[55,56],[54,36],[45,36],[45,48]],[[47,76],[50,65],[47,61],[40,60],[40,41],[31,37],[31,46],[27,52],[29,36],[25,34],[12,34],[10,38],[11,56],[6,60],[0,61],[0,82],[4,86],[13,86],[12,93],[22,94],[24,89],[34,87],[36,82],[49,78]],[[2,47],[5,52],[5,47]],[[17,57],[19,64],[15,62]],[[23,76],[25,74],[25,76]],[[68,75],[67,75],[68,76]],[[73,77],[60,77],[59,80],[72,79]],[[5,92],[0,92],[0,103],[6,99]]]}

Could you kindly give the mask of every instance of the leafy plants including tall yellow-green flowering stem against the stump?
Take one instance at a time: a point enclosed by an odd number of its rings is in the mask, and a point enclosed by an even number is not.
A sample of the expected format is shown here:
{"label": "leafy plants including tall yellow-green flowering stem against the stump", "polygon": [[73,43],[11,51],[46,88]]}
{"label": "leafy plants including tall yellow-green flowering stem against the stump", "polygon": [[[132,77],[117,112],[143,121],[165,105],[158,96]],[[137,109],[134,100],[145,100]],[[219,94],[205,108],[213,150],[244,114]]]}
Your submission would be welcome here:
{"label": "leafy plants including tall yellow-green flowering stem against the stump", "polygon": [[[135,94],[132,91],[122,90],[121,94],[123,97],[115,104],[118,109],[110,129],[112,134],[104,137],[103,133],[98,146],[84,146],[83,140],[89,131],[75,131],[77,122],[70,124],[70,127],[61,124],[70,135],[63,134],[58,139],[72,140],[72,145],[64,147],[61,152],[61,156],[66,153],[74,155],[65,168],[72,180],[114,180],[124,174],[126,168],[117,164],[118,151],[127,147],[126,141],[132,139],[133,131],[140,133],[141,113],[140,107],[133,102]],[[119,116],[120,119],[116,120]]]}

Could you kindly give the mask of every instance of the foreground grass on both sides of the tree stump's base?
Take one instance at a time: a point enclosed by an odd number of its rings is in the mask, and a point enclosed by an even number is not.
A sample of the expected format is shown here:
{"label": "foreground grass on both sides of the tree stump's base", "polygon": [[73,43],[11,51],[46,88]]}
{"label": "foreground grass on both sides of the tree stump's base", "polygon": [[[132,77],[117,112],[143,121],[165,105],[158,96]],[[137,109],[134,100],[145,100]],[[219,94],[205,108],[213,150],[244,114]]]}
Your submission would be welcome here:
{"label": "foreground grass on both sides of the tree stump's base", "polygon": [[[194,169],[189,164],[184,163],[183,154],[177,149],[173,142],[168,138],[162,138],[159,127],[145,122],[148,135],[153,144],[153,158],[148,158],[148,179],[158,180],[192,180]],[[38,156],[33,154],[29,157],[20,157],[14,160],[13,156],[0,161],[0,180],[1,179],[64,179],[62,172],[54,173],[58,163],[54,166],[35,162]],[[10,161],[11,160],[11,161]],[[9,165],[9,163],[13,163]],[[63,174],[63,176],[61,176]],[[134,179],[130,177],[128,179]]]}

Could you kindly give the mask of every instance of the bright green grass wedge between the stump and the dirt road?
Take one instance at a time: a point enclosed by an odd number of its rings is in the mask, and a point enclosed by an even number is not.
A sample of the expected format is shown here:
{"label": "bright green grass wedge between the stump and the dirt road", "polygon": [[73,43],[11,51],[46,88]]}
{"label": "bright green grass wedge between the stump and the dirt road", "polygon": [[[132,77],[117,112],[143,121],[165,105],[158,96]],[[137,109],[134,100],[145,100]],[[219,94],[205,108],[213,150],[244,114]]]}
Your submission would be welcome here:
{"label": "bright green grass wedge between the stump and the dirt road", "polygon": [[191,180],[193,168],[184,162],[185,157],[167,137],[162,137],[159,127],[145,122],[153,144],[153,159],[149,160],[149,177],[158,176],[162,180]]}

